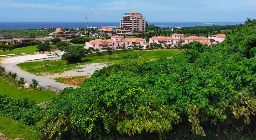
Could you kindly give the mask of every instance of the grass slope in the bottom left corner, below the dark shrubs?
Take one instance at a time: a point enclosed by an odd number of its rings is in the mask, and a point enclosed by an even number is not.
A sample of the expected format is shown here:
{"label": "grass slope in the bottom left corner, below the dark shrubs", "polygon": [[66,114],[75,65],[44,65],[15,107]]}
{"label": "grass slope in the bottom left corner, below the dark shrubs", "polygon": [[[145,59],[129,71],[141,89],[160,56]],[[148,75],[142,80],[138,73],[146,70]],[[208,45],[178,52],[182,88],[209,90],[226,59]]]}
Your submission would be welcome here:
{"label": "grass slope in the bottom left corner, below the dark shrubs", "polygon": [[11,139],[22,137],[26,140],[42,140],[42,135],[34,127],[27,126],[23,122],[4,117],[0,114],[0,132]]}

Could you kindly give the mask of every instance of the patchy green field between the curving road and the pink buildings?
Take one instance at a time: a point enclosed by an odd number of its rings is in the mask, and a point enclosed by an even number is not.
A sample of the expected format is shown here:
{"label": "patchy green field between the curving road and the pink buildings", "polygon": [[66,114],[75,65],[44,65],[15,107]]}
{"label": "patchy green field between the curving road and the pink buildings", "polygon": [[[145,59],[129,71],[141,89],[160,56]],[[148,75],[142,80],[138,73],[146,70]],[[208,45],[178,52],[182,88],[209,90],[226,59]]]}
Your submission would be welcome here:
{"label": "patchy green field between the curving road and the pink buildings", "polygon": [[[62,73],[64,71],[70,71],[72,69],[80,69],[82,67],[78,67],[84,64],[90,63],[126,63],[126,62],[138,62],[142,63],[144,61],[154,61],[161,57],[173,57],[174,55],[180,53],[180,50],[153,50],[153,51],[133,51],[126,50],[126,52],[122,51],[112,51],[113,55],[108,55],[106,52],[101,52],[100,56],[95,56],[95,54],[87,55],[87,57],[82,58],[83,63],[79,64],[68,64],[65,60],[58,60],[58,61],[50,61],[50,62],[28,62],[28,63],[20,63],[18,66],[23,70],[39,75],[39,73],[49,72],[49,73]],[[130,52],[133,51],[133,52]],[[141,55],[139,58],[136,59],[121,59],[121,60],[109,60],[108,58],[111,57],[118,57],[123,55]]]}

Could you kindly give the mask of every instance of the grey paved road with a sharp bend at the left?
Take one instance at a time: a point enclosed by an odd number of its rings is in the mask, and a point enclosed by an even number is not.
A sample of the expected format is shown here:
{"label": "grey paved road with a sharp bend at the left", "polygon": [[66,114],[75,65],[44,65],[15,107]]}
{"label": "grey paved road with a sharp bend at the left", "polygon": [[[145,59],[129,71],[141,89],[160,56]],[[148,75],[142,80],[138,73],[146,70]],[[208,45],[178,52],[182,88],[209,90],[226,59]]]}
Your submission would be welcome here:
{"label": "grey paved road with a sharp bend at the left", "polygon": [[[58,60],[61,59],[62,53],[59,51],[55,51],[59,56],[58,57],[52,57],[52,58],[47,58],[47,59],[40,59],[40,60],[33,60],[33,61],[26,61],[26,62],[37,62],[37,61],[44,61],[44,60]],[[24,62],[17,62],[17,63],[8,63],[8,64],[1,64],[2,66],[5,67],[5,71],[6,72],[13,72],[13,73],[17,73],[19,75],[19,77],[24,77],[25,80],[27,82],[31,82],[32,79],[37,79],[39,81],[39,85],[42,87],[47,87],[51,86],[54,88],[57,88],[58,90],[62,90],[66,87],[74,87],[76,88],[76,86],[71,86],[71,85],[67,85],[67,84],[62,84],[57,82],[56,80],[53,79],[49,79],[49,78],[45,78],[45,77],[41,77],[41,76],[36,76],[34,74],[28,73],[23,71],[20,67],[17,66],[17,64],[19,63],[24,63]]]}

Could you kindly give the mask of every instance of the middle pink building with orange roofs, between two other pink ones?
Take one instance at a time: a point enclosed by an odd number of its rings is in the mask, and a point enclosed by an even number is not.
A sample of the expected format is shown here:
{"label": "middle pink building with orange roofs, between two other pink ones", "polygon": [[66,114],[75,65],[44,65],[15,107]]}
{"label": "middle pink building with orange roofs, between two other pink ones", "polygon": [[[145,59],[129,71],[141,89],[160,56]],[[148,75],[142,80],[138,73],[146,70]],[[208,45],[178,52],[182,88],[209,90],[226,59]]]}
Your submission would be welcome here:
{"label": "middle pink building with orange roofs, between two other pink ones", "polygon": [[196,36],[192,36],[192,37],[186,37],[184,34],[177,34],[174,33],[172,35],[172,37],[153,37],[150,38],[149,43],[159,43],[159,41],[164,41],[166,44],[178,44],[180,40],[183,40],[183,44],[187,43],[189,44],[190,42],[193,41],[199,41],[202,44],[208,44],[211,45],[210,39],[207,37],[196,37]]}

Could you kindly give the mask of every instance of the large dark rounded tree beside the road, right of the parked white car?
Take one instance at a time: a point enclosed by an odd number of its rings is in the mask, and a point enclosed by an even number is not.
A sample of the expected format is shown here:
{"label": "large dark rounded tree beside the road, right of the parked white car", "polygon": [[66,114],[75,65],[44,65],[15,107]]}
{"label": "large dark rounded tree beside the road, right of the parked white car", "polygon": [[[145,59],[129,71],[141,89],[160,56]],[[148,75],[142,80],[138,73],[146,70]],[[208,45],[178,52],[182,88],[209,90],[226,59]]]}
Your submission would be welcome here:
{"label": "large dark rounded tree beside the road, right of the parked white car", "polygon": [[74,46],[70,48],[67,53],[62,55],[62,59],[68,61],[69,63],[79,63],[85,54],[89,54],[90,51],[84,49],[83,46]]}

